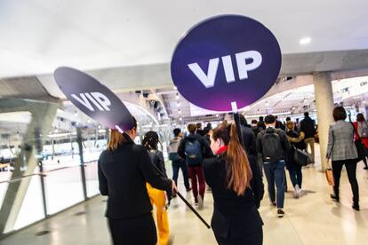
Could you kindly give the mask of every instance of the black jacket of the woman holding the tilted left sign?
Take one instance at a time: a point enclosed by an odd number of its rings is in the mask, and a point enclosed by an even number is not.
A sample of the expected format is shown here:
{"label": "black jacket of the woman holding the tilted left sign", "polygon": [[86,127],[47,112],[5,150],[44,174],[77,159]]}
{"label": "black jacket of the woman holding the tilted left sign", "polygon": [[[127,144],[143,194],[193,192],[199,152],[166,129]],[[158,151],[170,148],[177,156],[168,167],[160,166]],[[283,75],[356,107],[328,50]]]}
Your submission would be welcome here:
{"label": "black jacket of the woman holding the tilted left sign", "polygon": [[152,210],[146,182],[170,191],[172,180],[154,169],[146,147],[123,143],[115,151],[105,150],[98,163],[100,194],[108,195],[106,217],[139,217]]}

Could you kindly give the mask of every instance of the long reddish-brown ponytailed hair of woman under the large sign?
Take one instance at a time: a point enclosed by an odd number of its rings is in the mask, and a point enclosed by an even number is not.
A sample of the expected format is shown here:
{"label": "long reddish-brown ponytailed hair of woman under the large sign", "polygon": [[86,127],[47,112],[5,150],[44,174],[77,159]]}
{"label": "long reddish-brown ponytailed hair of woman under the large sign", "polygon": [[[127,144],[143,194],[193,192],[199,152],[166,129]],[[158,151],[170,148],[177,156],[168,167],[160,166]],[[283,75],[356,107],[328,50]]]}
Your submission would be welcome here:
{"label": "long reddish-brown ponytailed hair of woman under the large sign", "polygon": [[228,189],[237,195],[243,195],[245,189],[251,186],[252,170],[237,136],[236,124],[221,123],[212,130],[212,138],[214,140],[220,138],[228,146],[225,155]]}

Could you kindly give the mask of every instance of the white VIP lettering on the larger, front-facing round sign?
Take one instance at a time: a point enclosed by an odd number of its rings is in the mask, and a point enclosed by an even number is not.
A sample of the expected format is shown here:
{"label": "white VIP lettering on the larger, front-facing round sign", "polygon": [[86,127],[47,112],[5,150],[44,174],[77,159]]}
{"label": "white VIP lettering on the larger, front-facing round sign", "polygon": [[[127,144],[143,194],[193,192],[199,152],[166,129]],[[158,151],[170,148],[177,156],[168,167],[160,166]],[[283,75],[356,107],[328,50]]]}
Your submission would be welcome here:
{"label": "white VIP lettering on the larger, front-facing round sign", "polygon": [[[252,59],[252,62],[247,64],[247,59]],[[233,62],[231,61],[231,56],[226,55],[221,57],[222,66],[224,67],[225,78],[228,83],[233,83],[236,81],[234,74]],[[199,67],[198,63],[188,64],[189,69],[194,75],[199,79],[204,86],[212,88],[214,86],[217,70],[219,67],[219,58],[214,58],[209,60],[207,74],[204,73],[203,69]],[[248,78],[248,72],[255,70],[260,67],[262,63],[262,56],[259,51],[243,51],[236,53],[236,66],[240,80]]]}

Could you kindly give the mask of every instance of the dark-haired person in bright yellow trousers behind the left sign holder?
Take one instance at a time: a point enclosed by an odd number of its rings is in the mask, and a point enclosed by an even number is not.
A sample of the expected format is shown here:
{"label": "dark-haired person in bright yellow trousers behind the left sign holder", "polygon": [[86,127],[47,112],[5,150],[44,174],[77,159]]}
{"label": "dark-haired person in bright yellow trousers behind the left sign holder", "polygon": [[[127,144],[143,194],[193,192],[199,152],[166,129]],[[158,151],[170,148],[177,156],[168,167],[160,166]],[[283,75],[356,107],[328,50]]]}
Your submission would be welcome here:
{"label": "dark-haired person in bright yellow trousers behind the left sign holder", "polygon": [[[158,150],[158,135],[155,131],[148,131],[143,138],[142,145],[148,149],[152,163],[156,165],[164,177],[167,178],[166,169],[164,167],[164,154]],[[152,205],[156,206],[156,222],[158,229],[158,244],[166,245],[170,243],[169,218],[166,210],[166,195],[164,191],[158,190],[148,183],[148,196]]]}

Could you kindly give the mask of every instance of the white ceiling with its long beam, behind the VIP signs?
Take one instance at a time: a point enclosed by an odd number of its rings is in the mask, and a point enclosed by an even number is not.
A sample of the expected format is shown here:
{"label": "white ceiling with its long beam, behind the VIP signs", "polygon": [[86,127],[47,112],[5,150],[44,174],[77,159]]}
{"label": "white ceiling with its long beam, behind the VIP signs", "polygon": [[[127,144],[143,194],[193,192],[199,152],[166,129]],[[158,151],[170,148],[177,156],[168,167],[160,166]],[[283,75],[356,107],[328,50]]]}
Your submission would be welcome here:
{"label": "white ceiling with its long beam, behind the VIP signs", "polygon": [[[269,107],[273,113],[284,113],[292,107],[298,111],[313,107],[313,81],[304,77],[300,79],[303,82],[293,83],[299,79],[295,75],[342,70],[340,76],[352,77],[356,74],[347,70],[368,68],[367,9],[368,2],[363,0],[236,0],[231,4],[220,0],[3,0],[0,82],[17,82],[13,83],[19,87],[15,91],[23,93],[24,98],[30,91],[43,92],[39,86],[32,86],[37,90],[31,88],[31,83],[39,81],[52,97],[63,98],[52,72],[60,66],[76,67],[88,71],[118,95],[151,91],[157,101],[161,100],[166,115],[188,121],[192,107],[180,95],[177,99],[171,80],[172,51],[180,36],[197,22],[233,13],[262,22],[275,34],[283,53],[277,83],[285,83],[276,84],[268,92],[268,105],[261,99],[247,108],[247,113],[267,112]],[[300,42],[308,38],[309,43]],[[368,75],[368,71],[361,75]],[[284,76],[292,80],[284,81]],[[18,82],[28,86],[20,89]],[[287,88],[288,84],[300,89]],[[196,114],[195,119],[202,120],[201,116],[209,113]],[[209,120],[222,116],[211,114]]]}

